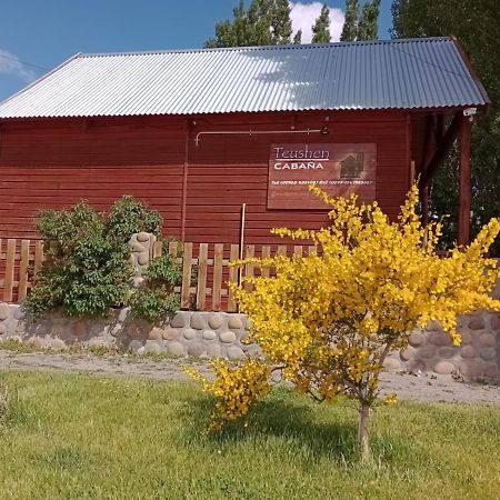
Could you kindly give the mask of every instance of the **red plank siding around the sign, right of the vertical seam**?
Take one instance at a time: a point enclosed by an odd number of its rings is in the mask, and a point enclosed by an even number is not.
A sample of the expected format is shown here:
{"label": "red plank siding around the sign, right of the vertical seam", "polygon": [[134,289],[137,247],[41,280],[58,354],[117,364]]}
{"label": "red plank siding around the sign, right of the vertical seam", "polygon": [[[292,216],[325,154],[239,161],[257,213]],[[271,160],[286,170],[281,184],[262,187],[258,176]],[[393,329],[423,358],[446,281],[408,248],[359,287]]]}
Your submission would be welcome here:
{"label": "red plank siding around the sign, right of the vertical seam", "polygon": [[[406,146],[406,116],[396,112],[339,113],[330,118],[328,136],[202,136],[190,149],[187,197],[188,241],[228,241],[240,234],[240,208],[247,203],[246,243],[276,243],[273,227],[318,228],[328,222],[326,210],[268,210],[268,162],[272,143],[279,142],[374,142],[377,143],[377,198],[391,217],[399,212],[408,189],[409,166]],[[296,129],[318,128],[321,116],[298,114]],[[288,120],[288,121],[287,121]],[[267,129],[290,129],[281,117]],[[254,130],[262,127],[221,118],[208,130]],[[203,128],[204,130],[204,128]]]}

